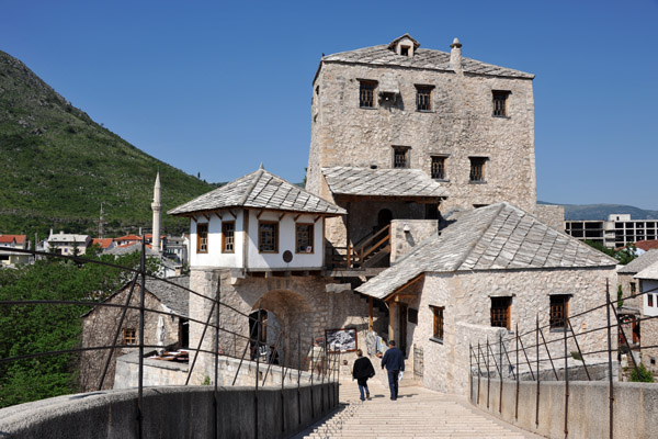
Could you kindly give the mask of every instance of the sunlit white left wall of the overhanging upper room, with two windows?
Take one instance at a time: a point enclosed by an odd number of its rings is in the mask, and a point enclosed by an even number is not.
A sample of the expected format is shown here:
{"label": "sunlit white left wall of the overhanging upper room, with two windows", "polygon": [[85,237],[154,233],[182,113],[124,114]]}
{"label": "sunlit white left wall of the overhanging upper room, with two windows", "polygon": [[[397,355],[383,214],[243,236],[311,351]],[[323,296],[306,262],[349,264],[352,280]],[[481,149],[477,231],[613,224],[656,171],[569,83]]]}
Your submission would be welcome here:
{"label": "sunlit white left wall of the overhanging upper room, with two windows", "polygon": [[[222,268],[241,268],[243,251],[243,211],[232,210],[237,215],[234,217],[228,211],[220,212],[224,221],[235,221],[235,252],[222,252],[222,219],[215,214],[208,215],[211,221],[197,215],[196,222],[190,221],[190,267],[222,267]],[[200,254],[196,251],[196,224],[208,223],[208,252]]]}

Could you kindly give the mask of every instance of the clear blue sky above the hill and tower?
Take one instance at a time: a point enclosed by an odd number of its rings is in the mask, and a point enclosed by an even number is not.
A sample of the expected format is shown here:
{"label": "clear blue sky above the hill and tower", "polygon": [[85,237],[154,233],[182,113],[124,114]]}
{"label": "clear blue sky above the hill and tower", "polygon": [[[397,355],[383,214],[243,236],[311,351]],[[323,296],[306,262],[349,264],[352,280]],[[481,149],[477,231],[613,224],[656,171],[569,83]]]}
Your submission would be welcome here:
{"label": "clear blue sky above the hill and tower", "polygon": [[658,210],[657,23],[658,0],[0,0],[0,49],[189,173],[263,161],[297,182],[322,53],[457,36],[466,57],[536,75],[540,200]]}

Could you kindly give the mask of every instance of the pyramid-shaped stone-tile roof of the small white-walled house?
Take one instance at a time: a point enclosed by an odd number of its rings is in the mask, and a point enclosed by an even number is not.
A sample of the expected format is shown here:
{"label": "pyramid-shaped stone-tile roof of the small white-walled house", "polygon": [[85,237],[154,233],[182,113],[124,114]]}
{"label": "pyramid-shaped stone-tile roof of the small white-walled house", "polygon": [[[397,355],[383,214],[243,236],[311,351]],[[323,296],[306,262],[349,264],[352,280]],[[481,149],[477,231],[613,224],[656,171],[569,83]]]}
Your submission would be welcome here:
{"label": "pyramid-shaped stone-tile roof of the small white-walled house", "polygon": [[277,211],[343,215],[347,211],[268,172],[256,172],[231,181],[167,212],[182,215],[227,207],[256,207]]}

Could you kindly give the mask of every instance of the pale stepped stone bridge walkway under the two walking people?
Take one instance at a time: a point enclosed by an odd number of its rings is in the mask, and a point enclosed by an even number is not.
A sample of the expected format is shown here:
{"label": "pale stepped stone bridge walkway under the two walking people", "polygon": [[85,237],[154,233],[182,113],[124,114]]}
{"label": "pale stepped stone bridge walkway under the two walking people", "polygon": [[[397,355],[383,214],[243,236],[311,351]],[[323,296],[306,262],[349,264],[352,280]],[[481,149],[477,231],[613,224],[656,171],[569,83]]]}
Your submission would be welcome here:
{"label": "pale stepped stone bridge walkway under the two walking people", "polygon": [[398,399],[390,401],[378,380],[371,380],[368,386],[371,399],[361,402],[356,382],[341,383],[341,407],[295,439],[541,438],[478,410],[465,397],[404,385]]}

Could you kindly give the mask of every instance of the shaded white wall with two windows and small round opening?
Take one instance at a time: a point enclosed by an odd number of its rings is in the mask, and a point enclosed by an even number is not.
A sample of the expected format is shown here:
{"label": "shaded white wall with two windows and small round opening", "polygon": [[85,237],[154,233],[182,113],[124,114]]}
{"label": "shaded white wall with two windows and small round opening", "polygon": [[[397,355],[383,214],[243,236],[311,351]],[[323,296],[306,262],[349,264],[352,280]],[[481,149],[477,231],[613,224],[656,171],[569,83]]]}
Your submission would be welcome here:
{"label": "shaded white wall with two windows and small round opening", "polygon": [[[313,254],[296,254],[295,252],[295,217],[296,213],[286,213],[281,221],[281,212],[263,212],[260,218],[257,218],[258,211],[250,211],[249,214],[249,233],[248,233],[248,250],[247,250],[247,267],[249,269],[266,269],[266,268],[321,268],[324,249],[325,226],[324,217],[318,218],[314,227],[314,252]],[[297,223],[314,223],[317,215],[302,215],[297,218]],[[279,251],[275,254],[261,254],[258,251],[258,228],[259,221],[277,221],[279,222]],[[290,250],[293,254],[293,260],[290,263],[283,261],[283,252]]]}

